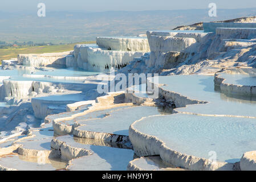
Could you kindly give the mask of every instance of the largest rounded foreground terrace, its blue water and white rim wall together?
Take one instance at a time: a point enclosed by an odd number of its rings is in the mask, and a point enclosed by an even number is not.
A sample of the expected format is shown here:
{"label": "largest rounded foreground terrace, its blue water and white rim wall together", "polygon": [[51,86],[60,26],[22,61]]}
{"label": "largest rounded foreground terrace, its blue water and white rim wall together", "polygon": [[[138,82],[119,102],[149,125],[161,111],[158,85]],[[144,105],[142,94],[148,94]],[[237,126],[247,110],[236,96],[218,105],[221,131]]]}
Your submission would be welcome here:
{"label": "largest rounded foreground terrace, its blue water and white rim wall together", "polygon": [[129,138],[139,156],[160,155],[188,169],[232,170],[243,153],[256,147],[255,129],[255,119],[171,114],[136,121]]}

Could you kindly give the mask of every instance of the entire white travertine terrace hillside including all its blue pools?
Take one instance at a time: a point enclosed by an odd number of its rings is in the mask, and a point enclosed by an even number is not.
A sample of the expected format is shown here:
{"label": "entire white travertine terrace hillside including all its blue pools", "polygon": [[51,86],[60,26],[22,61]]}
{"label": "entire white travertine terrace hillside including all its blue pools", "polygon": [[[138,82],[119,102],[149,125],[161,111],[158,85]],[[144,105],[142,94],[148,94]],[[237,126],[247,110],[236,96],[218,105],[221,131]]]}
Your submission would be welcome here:
{"label": "entire white travertine terrace hillside including all its blue pools", "polygon": [[0,170],[256,170],[251,19],[3,60]]}

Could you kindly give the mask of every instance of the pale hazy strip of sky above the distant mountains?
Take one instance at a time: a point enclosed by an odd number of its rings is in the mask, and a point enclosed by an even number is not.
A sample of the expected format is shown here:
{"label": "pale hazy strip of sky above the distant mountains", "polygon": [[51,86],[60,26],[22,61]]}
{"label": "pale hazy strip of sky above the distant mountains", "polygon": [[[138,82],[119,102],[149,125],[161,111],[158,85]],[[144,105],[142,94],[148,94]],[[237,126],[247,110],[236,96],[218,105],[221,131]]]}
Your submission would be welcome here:
{"label": "pale hazy strip of sky above the distant mountains", "polygon": [[142,11],[207,9],[214,2],[219,9],[256,7],[256,0],[8,0],[1,1],[0,11],[37,11],[38,3],[46,4],[47,11]]}

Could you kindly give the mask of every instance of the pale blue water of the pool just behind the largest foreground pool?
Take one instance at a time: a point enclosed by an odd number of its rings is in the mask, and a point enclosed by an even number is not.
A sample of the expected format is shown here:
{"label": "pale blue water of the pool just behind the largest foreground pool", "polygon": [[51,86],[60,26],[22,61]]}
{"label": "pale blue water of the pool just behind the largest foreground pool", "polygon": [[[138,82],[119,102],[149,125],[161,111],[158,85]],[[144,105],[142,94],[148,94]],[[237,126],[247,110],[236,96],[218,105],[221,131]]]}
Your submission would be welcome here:
{"label": "pale blue water of the pool just behind the largest foreground pool", "polygon": [[177,111],[185,111],[197,114],[221,114],[221,115],[242,115],[256,117],[255,98],[243,100],[243,98],[229,97],[224,93],[214,90],[214,76],[204,75],[180,75],[161,76],[159,84],[165,90],[180,93],[182,96],[193,100],[207,101],[208,104],[187,105],[177,108]]}

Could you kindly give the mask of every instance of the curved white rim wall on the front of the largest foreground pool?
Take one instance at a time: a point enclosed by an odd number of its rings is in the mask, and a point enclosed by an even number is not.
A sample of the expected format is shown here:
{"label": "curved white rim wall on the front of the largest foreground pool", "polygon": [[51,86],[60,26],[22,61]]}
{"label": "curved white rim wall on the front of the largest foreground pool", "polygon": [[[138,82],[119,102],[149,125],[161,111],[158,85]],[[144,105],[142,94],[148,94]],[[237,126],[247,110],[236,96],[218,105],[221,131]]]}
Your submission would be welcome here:
{"label": "curved white rim wall on the front of the largest foreground pool", "polygon": [[135,154],[139,156],[160,155],[164,162],[176,167],[182,167],[191,170],[232,170],[234,164],[225,162],[212,163],[208,159],[198,158],[192,155],[182,154],[179,151],[172,150],[159,138],[141,133],[136,129],[133,123],[129,128],[129,138],[133,144]]}

